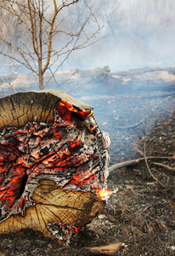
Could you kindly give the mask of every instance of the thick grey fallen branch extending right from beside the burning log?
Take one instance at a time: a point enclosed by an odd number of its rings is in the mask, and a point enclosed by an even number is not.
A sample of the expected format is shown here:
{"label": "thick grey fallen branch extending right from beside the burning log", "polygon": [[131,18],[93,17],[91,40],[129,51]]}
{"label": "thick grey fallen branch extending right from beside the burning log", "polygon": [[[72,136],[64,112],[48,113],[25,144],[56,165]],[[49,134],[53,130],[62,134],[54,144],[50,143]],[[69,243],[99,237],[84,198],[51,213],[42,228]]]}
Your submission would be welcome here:
{"label": "thick grey fallen branch extending right from beside the burning log", "polygon": [[[146,157],[147,160],[151,160],[151,159],[161,159],[161,160],[172,160],[173,157],[171,156],[148,156]],[[124,161],[118,164],[115,164],[113,166],[110,166],[108,168],[109,173],[116,171],[117,169],[121,169],[123,167],[128,167],[128,166],[135,166],[138,163],[144,161],[145,158],[138,158],[138,159],[134,159],[134,160],[128,160],[128,161]]]}

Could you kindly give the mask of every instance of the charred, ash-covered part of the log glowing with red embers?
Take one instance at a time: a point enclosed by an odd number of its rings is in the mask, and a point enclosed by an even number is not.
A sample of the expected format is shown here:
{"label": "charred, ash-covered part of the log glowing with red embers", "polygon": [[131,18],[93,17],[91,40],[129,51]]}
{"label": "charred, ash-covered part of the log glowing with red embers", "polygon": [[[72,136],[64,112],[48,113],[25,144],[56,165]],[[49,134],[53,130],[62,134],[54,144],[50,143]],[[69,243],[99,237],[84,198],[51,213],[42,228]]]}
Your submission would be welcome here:
{"label": "charred, ash-covered part of the log glowing with red embers", "polygon": [[[104,139],[105,137],[105,139]],[[110,140],[99,130],[93,112],[59,101],[54,123],[7,127],[0,134],[0,221],[25,215],[42,180],[65,190],[93,192],[106,201]],[[106,143],[107,142],[107,143]],[[48,224],[55,229],[58,224]],[[66,224],[62,224],[66,226]],[[71,233],[75,227],[67,228]]]}

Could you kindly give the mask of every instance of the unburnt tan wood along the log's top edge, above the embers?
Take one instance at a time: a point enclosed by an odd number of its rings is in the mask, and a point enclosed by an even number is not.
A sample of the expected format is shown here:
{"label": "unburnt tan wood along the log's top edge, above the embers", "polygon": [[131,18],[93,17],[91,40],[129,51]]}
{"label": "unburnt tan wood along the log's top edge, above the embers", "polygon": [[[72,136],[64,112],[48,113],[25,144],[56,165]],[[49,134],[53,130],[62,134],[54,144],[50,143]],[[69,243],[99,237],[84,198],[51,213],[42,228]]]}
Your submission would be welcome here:
{"label": "unburnt tan wood along the log's top edge, above the embers", "polygon": [[19,92],[0,99],[0,130],[8,126],[24,126],[31,121],[51,123],[54,108],[60,100],[70,102],[76,108],[93,109],[61,90]]}

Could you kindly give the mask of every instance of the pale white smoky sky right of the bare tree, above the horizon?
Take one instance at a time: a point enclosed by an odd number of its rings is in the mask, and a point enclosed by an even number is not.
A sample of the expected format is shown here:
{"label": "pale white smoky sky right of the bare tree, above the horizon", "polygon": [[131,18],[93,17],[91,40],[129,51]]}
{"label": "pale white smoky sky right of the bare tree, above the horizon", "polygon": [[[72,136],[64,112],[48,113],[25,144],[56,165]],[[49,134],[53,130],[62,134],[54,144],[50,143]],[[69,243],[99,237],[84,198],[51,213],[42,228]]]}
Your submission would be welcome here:
{"label": "pale white smoky sky right of the bare tree, above the horizon", "polygon": [[102,27],[98,43],[74,52],[65,67],[109,65],[111,71],[172,67],[175,61],[175,2],[172,0],[92,1]]}

